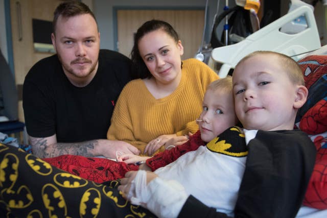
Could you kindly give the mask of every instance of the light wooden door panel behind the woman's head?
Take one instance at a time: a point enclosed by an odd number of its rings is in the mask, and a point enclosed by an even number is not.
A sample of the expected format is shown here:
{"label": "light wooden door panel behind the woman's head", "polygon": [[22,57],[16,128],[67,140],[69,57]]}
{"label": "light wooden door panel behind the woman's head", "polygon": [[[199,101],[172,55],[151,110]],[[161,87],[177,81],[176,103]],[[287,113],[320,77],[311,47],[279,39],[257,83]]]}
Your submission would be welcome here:
{"label": "light wooden door panel behind the woman's head", "polygon": [[118,10],[118,50],[130,57],[133,34],[145,21],[161,19],[177,31],[184,46],[182,59],[192,58],[201,44],[204,10]]}

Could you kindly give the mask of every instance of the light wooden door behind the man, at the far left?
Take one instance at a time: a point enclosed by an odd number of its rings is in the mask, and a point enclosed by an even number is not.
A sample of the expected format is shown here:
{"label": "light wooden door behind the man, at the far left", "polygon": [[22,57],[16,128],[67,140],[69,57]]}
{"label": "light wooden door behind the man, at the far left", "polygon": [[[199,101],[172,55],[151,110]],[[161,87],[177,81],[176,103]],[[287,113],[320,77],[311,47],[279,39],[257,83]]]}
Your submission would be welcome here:
{"label": "light wooden door behind the man, at the far left", "polygon": [[[19,92],[18,96],[21,96],[21,86],[30,68],[38,60],[52,55],[50,53],[37,53],[34,51],[32,19],[52,21],[53,12],[61,2],[60,0],[10,1],[14,73]],[[19,30],[19,28],[21,29]],[[19,120],[24,122],[21,100],[18,102],[18,117]]]}

